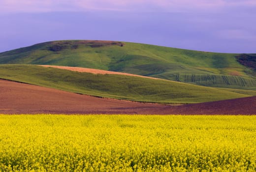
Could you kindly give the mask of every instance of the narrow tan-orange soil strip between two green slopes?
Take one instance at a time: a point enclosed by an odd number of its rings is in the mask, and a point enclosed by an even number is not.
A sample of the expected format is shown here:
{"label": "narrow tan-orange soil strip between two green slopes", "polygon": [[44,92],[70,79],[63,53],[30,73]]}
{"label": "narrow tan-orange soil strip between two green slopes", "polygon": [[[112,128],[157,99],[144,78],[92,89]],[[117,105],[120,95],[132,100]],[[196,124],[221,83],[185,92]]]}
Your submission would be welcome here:
{"label": "narrow tan-orange soil strip between two green slopes", "polygon": [[38,66],[54,67],[54,68],[58,68],[58,69],[65,69],[65,70],[71,70],[71,71],[76,71],[76,72],[87,72],[87,73],[93,73],[93,74],[127,75],[127,76],[135,76],[135,77],[162,80],[160,78],[145,77],[145,76],[141,76],[141,75],[135,75],[135,74],[129,74],[129,73],[123,73],[123,72],[113,72],[113,71],[91,69],[91,68],[84,68],[84,67],[69,67],[69,66],[54,66],[54,65],[38,65]]}

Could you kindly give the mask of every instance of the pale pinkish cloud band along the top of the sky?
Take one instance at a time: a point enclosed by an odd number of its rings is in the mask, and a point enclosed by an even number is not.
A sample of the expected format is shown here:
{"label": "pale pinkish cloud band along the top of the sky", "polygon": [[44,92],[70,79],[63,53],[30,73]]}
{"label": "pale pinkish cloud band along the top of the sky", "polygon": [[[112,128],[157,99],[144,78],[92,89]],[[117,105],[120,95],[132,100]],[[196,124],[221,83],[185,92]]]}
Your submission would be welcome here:
{"label": "pale pinkish cloud band along the top of the sky", "polygon": [[1,13],[49,11],[209,11],[256,6],[256,0],[0,0]]}

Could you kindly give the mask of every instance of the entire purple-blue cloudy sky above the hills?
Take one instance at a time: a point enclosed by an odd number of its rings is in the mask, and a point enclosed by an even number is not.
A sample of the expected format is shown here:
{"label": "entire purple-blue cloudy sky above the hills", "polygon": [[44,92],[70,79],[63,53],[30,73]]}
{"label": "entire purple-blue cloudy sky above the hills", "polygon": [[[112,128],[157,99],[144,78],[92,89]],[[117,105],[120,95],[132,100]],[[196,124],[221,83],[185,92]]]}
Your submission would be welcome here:
{"label": "entire purple-blue cloudy sky above the hills", "polygon": [[256,53],[256,0],[0,0],[0,52],[66,39]]}

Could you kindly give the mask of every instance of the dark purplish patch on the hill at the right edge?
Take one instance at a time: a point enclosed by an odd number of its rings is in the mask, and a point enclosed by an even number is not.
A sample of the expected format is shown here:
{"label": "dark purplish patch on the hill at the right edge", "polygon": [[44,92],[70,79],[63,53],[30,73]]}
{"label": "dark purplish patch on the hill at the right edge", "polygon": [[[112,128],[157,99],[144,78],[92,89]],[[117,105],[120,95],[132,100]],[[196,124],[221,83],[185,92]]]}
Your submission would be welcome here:
{"label": "dark purplish patch on the hill at the right edge", "polygon": [[256,70],[256,54],[241,54],[236,59],[240,64]]}

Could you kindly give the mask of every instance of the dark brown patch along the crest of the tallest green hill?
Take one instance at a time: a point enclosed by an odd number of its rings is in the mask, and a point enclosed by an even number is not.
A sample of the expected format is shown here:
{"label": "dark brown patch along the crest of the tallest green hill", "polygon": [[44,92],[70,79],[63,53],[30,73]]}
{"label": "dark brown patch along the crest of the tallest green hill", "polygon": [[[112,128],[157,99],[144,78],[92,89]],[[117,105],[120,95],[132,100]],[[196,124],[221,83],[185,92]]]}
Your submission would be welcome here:
{"label": "dark brown patch along the crest of the tallest green hill", "polygon": [[77,49],[79,46],[88,46],[91,48],[98,48],[104,46],[120,46],[123,47],[124,44],[122,42],[115,41],[54,41],[49,43],[51,46],[47,47],[47,50],[58,52],[64,49]]}

